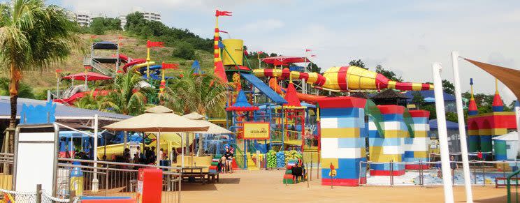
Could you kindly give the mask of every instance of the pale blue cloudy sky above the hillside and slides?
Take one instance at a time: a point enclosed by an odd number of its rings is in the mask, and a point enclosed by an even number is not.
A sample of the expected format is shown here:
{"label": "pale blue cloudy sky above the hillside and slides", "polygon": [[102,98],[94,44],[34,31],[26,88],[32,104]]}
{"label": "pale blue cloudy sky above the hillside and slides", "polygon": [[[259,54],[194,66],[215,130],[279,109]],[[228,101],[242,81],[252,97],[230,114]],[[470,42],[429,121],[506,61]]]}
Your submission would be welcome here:
{"label": "pale blue cloudy sky above the hillside and slides", "polygon": [[[229,10],[219,27],[250,51],[303,55],[326,70],[353,59],[377,64],[408,82],[431,82],[431,63],[453,82],[451,52],[484,63],[518,69],[520,1],[298,1],[298,0],[52,0],[72,11],[116,17],[134,7],[162,15],[164,24],[212,38],[215,9]],[[224,35],[223,38],[229,36]],[[476,93],[493,93],[494,78],[458,60],[462,91],[474,78]],[[503,84],[506,104],[515,96]]]}

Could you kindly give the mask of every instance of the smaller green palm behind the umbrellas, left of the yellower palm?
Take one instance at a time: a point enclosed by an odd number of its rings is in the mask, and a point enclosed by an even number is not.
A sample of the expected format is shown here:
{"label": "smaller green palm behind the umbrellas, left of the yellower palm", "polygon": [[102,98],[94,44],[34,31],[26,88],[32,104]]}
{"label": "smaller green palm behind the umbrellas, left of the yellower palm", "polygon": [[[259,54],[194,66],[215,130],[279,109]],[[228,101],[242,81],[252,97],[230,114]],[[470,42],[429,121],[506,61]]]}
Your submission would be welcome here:
{"label": "smaller green palm behind the umbrellas, left of the yellower palm", "polygon": [[140,88],[139,84],[142,80],[139,75],[131,72],[117,77],[115,86],[107,87],[113,91],[108,93],[108,96],[99,104],[99,108],[125,115],[143,114],[148,107],[146,95],[152,89]]}

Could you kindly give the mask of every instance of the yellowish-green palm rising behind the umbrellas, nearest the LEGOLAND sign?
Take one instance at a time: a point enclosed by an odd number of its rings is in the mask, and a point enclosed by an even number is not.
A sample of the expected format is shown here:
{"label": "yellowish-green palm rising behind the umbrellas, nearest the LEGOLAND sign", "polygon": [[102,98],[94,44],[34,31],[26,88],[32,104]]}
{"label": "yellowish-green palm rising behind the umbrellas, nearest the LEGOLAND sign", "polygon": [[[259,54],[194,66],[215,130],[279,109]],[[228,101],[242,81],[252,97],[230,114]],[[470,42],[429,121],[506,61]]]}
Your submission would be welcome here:
{"label": "yellowish-green palm rising behind the umbrellas, nearest the LEGOLAND sign", "polygon": [[[161,94],[164,105],[172,110],[188,114],[198,112],[202,115],[222,115],[226,103],[226,85],[217,81],[215,75],[194,75],[187,71],[178,80],[173,80]],[[203,139],[198,140],[198,152],[202,154]]]}

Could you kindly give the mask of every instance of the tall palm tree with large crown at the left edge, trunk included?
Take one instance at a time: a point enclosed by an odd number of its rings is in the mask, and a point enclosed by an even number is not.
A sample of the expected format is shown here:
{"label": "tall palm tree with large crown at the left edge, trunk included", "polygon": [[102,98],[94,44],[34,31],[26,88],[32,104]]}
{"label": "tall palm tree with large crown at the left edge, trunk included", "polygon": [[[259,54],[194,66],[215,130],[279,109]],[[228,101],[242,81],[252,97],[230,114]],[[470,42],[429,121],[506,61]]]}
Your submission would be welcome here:
{"label": "tall palm tree with large crown at the left edge, trunk included", "polygon": [[[43,0],[12,0],[0,3],[0,66],[10,72],[9,128],[16,126],[17,98],[24,70],[41,70],[62,61],[72,50],[80,49],[78,24],[58,6],[45,6]],[[9,151],[13,151],[9,136]]]}

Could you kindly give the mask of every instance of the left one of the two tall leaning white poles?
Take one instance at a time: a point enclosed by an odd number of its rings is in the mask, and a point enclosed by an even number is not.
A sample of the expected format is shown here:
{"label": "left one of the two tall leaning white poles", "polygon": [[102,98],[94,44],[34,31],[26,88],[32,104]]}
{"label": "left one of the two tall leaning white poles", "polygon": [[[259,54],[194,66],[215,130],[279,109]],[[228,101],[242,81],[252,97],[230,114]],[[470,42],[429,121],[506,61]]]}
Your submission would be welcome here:
{"label": "left one of the two tall leaning white poles", "polygon": [[444,183],[445,202],[453,203],[452,172],[449,168],[448,135],[446,130],[446,114],[444,96],[442,95],[442,79],[440,63],[432,63],[433,85],[435,86],[435,109],[437,110],[437,122],[440,142],[440,160],[442,165],[442,182]]}

